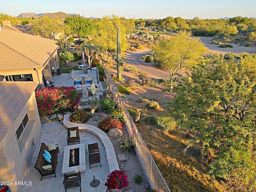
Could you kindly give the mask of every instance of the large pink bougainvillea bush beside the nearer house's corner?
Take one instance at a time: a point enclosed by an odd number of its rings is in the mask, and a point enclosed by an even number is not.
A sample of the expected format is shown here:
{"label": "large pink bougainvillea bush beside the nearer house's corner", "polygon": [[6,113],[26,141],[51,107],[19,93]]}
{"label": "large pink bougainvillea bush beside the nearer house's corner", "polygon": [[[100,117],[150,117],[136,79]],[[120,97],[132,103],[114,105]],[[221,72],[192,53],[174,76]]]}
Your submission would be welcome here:
{"label": "large pink bougainvillea bush beside the nearer house's corner", "polygon": [[49,87],[35,91],[36,104],[40,115],[74,111],[80,97],[74,87]]}

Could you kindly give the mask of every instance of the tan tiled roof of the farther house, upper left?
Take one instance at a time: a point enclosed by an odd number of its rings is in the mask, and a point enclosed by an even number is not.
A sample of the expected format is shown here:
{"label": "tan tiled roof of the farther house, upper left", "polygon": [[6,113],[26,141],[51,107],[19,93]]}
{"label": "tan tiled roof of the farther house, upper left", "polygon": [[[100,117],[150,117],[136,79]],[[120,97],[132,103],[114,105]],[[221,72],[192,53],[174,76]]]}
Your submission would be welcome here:
{"label": "tan tiled roof of the farther house, upper left", "polygon": [[8,30],[0,31],[0,68],[44,66],[55,50],[57,41]]}

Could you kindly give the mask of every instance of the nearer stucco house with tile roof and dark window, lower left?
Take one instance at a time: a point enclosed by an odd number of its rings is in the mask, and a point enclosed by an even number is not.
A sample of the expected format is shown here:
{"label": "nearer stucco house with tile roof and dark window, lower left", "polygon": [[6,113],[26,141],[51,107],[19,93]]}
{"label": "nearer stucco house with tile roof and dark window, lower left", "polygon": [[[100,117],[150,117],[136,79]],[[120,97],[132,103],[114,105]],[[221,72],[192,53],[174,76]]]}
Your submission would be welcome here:
{"label": "nearer stucco house with tile roof and dark window, lower left", "polygon": [[12,192],[22,189],[18,182],[25,180],[42,131],[37,86],[31,81],[0,81],[0,181]]}

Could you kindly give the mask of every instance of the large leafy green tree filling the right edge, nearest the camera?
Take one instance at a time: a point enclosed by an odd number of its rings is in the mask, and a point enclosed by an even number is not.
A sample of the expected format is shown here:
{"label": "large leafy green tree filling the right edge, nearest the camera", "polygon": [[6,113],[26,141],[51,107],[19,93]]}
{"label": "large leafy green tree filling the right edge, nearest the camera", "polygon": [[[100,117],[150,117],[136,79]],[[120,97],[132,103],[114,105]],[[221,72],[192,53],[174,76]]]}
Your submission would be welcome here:
{"label": "large leafy green tree filling the right edge, nearest the camera", "polygon": [[255,189],[256,58],[207,58],[182,79],[176,93],[169,112],[180,128],[195,133],[190,145],[201,149],[210,174],[236,189],[230,191]]}

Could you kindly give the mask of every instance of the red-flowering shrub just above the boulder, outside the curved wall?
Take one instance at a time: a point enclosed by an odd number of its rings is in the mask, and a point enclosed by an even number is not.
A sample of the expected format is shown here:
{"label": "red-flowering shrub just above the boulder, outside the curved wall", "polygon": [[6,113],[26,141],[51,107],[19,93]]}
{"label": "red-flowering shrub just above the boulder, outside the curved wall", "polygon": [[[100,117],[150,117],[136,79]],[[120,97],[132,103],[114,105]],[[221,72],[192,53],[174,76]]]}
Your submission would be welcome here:
{"label": "red-flowering shrub just above the boulder, outside the curved wall", "polygon": [[99,122],[98,128],[100,128],[104,132],[108,132],[110,129],[113,129],[113,128],[122,130],[123,123],[118,119],[113,119],[109,117]]}

